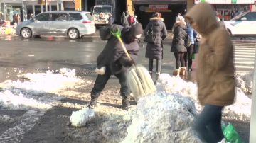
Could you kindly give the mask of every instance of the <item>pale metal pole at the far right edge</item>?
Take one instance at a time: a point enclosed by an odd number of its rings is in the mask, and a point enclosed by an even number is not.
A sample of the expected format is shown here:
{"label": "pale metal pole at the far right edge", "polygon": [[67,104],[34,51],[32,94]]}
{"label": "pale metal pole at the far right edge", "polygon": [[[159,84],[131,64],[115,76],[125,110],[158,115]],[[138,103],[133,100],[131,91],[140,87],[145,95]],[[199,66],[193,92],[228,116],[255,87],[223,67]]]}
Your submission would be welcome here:
{"label": "pale metal pole at the far right edge", "polygon": [[[256,55],[256,52],[255,52]],[[255,67],[256,69],[256,58],[255,58]],[[252,89],[252,107],[251,107],[251,118],[250,118],[250,143],[256,142],[256,136],[252,133],[256,132],[256,71],[253,74],[253,89]]]}

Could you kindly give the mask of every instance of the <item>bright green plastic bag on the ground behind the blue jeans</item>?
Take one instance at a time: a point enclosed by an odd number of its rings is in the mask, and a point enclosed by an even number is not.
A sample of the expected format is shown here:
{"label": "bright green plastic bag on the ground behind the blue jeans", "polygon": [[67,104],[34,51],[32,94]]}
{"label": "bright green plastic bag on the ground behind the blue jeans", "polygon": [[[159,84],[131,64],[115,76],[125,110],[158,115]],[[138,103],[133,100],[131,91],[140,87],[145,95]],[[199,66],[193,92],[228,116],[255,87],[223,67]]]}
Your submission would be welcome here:
{"label": "bright green plastic bag on the ground behind the blue jeans", "polygon": [[228,125],[223,125],[222,130],[226,142],[243,143],[240,139],[240,136],[238,135],[238,132],[235,130],[235,127],[231,123],[228,123]]}

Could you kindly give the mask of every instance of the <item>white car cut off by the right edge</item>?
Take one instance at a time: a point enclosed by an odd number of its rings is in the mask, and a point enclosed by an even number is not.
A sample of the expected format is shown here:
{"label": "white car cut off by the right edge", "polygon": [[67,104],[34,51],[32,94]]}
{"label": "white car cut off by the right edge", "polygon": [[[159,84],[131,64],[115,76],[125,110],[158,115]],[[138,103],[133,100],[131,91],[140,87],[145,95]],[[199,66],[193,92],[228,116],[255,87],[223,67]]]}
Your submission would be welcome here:
{"label": "white car cut off by the right edge", "polygon": [[230,35],[256,35],[256,12],[240,13],[230,21],[224,21],[224,23]]}

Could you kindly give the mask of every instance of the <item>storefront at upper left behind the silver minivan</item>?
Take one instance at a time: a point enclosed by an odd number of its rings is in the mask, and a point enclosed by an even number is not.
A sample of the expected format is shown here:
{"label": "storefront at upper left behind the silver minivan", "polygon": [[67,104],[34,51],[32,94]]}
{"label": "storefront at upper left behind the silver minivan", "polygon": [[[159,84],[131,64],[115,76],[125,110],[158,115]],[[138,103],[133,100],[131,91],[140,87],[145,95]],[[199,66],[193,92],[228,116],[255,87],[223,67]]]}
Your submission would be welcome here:
{"label": "storefront at upper left behind the silver minivan", "polygon": [[13,21],[16,13],[21,15],[21,21],[36,16],[45,11],[74,10],[73,0],[47,0],[46,4],[38,4],[38,0],[0,0],[0,19]]}

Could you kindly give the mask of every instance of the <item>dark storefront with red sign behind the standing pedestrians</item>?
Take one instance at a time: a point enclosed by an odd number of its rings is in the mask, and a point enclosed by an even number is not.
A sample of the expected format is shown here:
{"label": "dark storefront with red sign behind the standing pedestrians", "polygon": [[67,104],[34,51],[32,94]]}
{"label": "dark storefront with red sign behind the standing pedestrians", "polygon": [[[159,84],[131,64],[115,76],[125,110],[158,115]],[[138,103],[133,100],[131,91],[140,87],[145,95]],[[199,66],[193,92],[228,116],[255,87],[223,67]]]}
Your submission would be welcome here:
{"label": "dark storefront with red sign behind the standing pedestrians", "polygon": [[161,12],[167,29],[171,29],[178,13],[186,13],[187,0],[133,0],[134,15],[143,27],[149,22],[152,13]]}

